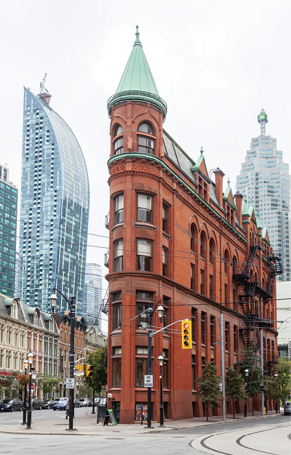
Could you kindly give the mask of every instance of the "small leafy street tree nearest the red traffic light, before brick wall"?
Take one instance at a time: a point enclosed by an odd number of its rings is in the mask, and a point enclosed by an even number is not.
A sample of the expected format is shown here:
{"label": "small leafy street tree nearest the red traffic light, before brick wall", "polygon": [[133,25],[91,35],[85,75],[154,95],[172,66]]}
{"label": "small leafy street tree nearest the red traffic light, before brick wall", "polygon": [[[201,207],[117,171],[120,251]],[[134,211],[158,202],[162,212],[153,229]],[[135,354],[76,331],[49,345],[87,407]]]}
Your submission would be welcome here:
{"label": "small leafy street tree nearest the red traffic light, before brick wall", "polygon": [[206,421],[208,421],[208,406],[220,407],[222,394],[220,391],[221,376],[216,375],[217,367],[213,361],[207,362],[202,370],[201,376],[197,379],[198,392],[197,397],[201,398],[206,405]]}

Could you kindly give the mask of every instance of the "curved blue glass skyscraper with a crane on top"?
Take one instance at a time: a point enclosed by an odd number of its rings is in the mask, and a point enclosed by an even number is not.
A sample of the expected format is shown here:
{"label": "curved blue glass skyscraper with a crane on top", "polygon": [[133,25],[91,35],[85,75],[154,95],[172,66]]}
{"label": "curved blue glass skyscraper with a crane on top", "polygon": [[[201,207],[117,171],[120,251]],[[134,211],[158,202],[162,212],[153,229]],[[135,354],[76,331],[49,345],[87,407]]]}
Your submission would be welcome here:
{"label": "curved blue glass skyscraper with a crane on top", "polygon": [[[40,84],[24,88],[18,295],[50,311],[53,287],[76,299],[82,314],[89,209],[87,169],[65,121]],[[57,293],[56,311],[67,303]]]}

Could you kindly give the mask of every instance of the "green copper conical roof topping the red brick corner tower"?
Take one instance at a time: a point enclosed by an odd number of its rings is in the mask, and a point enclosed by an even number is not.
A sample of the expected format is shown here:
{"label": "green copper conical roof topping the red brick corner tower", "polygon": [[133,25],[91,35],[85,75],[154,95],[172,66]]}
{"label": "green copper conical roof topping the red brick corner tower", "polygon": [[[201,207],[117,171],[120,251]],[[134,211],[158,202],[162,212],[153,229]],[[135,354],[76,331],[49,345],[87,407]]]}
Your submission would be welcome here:
{"label": "green copper conical roof topping the red brick corner tower", "polygon": [[138,26],[136,26],[135,41],[130,57],[123,71],[117,90],[107,101],[108,113],[112,106],[124,101],[143,101],[161,109],[166,116],[166,103],[160,98],[151,71],[146,61],[139,40]]}

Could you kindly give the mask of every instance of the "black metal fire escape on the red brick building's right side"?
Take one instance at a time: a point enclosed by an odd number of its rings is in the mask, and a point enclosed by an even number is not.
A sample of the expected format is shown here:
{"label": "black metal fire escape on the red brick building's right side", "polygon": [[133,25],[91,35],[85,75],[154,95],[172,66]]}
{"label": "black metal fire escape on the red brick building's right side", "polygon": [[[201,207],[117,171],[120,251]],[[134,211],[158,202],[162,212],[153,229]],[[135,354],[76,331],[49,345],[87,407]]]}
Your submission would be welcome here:
{"label": "black metal fire escape on the red brick building's right side", "polygon": [[[245,261],[241,267],[236,267],[233,270],[232,283],[238,285],[238,296],[245,315],[245,320],[242,323],[239,334],[243,339],[245,346],[256,348],[255,329],[265,327],[271,328],[272,324],[259,318],[258,309],[254,307],[254,296],[260,295],[267,302],[273,296],[273,285],[276,275],[282,273],[282,265],[280,255],[272,252],[265,255],[267,266],[269,267],[269,278],[266,285],[262,285],[257,277],[250,281],[250,270],[257,252],[261,250],[259,241],[251,242],[249,250],[246,254]],[[265,252],[263,252],[264,254]],[[251,335],[252,334],[252,335]]]}

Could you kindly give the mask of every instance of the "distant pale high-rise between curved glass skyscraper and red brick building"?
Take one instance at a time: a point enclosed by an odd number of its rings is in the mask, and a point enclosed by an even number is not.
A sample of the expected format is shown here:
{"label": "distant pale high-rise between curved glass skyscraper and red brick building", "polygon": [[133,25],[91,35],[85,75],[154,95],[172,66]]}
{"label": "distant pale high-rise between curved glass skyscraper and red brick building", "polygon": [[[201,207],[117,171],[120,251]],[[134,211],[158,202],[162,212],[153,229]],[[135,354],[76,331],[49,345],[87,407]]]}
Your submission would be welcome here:
{"label": "distant pale high-rise between curved glass skyscraper and red brick building", "polygon": [[98,264],[86,264],[83,301],[83,317],[88,322],[94,322],[101,331],[102,303],[102,269]]}

